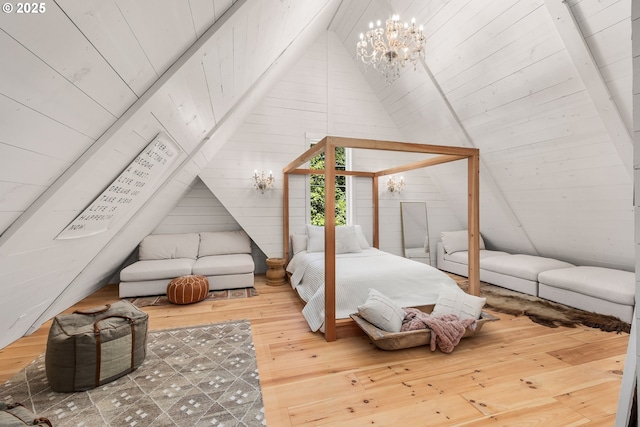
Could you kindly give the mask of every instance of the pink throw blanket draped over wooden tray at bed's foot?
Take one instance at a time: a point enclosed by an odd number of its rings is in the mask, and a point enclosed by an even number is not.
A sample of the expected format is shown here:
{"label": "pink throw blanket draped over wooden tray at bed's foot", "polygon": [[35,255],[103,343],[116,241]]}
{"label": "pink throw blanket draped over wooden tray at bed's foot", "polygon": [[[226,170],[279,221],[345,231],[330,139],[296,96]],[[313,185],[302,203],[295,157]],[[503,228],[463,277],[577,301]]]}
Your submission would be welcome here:
{"label": "pink throw blanket draped over wooden tray at bed's foot", "polygon": [[405,308],[404,311],[406,315],[400,331],[431,329],[431,351],[435,351],[437,346],[443,353],[451,353],[462,339],[467,327],[471,326],[472,330],[475,329],[475,320],[459,320],[455,314],[431,316],[411,307]]}

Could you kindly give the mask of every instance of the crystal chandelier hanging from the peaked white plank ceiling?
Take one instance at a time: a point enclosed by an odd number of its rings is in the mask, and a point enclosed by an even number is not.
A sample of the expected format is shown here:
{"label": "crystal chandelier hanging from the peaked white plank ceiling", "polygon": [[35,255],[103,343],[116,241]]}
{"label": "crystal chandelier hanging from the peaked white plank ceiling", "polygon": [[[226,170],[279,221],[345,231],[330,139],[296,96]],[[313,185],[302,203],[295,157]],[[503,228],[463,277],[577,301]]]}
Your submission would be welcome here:
{"label": "crystal chandelier hanging from the peaked white plank ceiling", "polygon": [[360,33],[356,51],[362,62],[373,64],[387,83],[392,83],[400,76],[400,67],[407,62],[411,62],[415,70],[418,59],[424,58],[424,43],[422,25],[416,28],[415,18],[411,19],[411,24],[403,24],[398,15],[393,15],[387,19],[384,28],[380,20],[376,28],[370,22],[369,30]]}

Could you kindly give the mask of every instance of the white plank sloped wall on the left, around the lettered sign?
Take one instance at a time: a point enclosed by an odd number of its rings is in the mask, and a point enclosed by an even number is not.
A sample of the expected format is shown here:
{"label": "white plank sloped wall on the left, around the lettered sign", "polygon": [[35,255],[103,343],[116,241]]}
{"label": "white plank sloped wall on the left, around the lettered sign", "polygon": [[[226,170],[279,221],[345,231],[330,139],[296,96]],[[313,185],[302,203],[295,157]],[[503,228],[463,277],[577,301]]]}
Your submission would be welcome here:
{"label": "white plank sloped wall on the left, around the lettered sign", "polygon": [[[111,277],[272,84],[263,76],[275,59],[286,67],[286,51],[308,43],[302,31],[315,39],[337,7],[193,3],[52,2],[39,16],[0,17],[11,58],[0,71],[0,191],[12,194],[0,197],[0,347]],[[183,153],[145,200],[108,232],[55,240],[161,131]]]}

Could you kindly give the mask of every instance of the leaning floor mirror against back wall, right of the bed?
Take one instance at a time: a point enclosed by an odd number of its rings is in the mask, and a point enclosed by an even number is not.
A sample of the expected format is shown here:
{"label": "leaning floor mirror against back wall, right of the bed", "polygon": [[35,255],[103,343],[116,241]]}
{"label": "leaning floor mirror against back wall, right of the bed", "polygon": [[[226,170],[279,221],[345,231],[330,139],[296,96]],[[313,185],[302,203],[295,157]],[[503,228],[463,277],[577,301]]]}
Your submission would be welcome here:
{"label": "leaning floor mirror against back wall, right of the bed", "polygon": [[426,202],[400,202],[405,258],[431,265]]}

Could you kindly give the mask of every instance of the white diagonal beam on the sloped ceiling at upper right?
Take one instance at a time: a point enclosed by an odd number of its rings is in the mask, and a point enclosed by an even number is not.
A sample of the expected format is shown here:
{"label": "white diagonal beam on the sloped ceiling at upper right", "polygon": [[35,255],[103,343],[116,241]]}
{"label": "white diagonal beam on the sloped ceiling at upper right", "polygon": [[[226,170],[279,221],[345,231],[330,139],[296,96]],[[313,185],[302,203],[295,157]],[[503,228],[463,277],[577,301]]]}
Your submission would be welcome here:
{"label": "white diagonal beam on the sloped ceiling at upper right", "polygon": [[561,0],[545,0],[545,5],[591,99],[600,113],[600,117],[611,136],[616,150],[618,150],[621,162],[624,164],[629,176],[633,176],[631,134],[622,120],[618,107],[611,100],[607,85],[580,33],[570,7]]}

